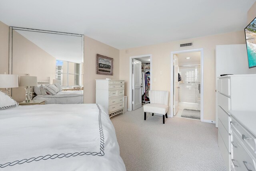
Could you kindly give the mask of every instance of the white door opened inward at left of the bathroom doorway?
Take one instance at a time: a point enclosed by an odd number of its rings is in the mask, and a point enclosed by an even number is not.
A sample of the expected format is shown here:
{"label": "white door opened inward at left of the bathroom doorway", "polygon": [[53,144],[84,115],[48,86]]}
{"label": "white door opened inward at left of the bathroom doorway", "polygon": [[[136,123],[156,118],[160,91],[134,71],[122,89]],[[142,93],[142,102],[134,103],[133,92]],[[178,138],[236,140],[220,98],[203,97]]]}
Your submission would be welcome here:
{"label": "white door opened inward at left of the bathroom doorway", "polygon": [[180,83],[178,82],[178,72],[179,72],[179,67],[178,67],[178,57],[174,55],[174,116],[178,112],[178,104],[179,104],[179,88],[180,88]]}

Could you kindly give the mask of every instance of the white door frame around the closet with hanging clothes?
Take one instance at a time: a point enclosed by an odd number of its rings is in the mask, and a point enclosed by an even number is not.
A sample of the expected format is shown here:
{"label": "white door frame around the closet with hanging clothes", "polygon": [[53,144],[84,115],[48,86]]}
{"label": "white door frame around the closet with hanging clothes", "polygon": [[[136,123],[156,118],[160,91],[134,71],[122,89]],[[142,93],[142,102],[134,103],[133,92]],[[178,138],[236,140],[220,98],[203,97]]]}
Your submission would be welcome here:
{"label": "white door frame around the closet with hanging clothes", "polygon": [[128,111],[132,111],[132,59],[134,58],[143,58],[143,57],[150,57],[150,88],[152,87],[152,55],[139,55],[139,56],[131,56],[130,57],[130,108],[127,109]]}

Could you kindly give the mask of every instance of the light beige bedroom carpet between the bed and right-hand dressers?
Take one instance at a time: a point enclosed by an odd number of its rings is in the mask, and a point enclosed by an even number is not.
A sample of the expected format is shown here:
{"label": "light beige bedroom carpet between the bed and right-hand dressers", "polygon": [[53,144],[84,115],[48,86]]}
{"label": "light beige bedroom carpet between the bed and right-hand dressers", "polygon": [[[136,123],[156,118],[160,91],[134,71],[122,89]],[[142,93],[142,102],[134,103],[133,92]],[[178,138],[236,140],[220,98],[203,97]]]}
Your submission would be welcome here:
{"label": "light beige bedroom carpet between the bed and right-hand dressers", "polygon": [[226,171],[214,124],[147,114],[111,118],[127,171]]}

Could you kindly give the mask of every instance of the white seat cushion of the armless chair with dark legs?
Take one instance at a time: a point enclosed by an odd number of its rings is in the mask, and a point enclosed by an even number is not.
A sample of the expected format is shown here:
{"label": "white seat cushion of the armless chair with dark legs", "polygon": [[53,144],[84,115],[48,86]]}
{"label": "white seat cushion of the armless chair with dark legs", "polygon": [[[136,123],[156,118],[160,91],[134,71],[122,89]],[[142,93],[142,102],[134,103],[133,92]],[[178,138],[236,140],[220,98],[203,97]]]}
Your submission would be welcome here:
{"label": "white seat cushion of the armless chair with dark legs", "polygon": [[168,108],[169,108],[168,105],[154,104],[154,103],[145,104],[143,106],[144,112],[150,112],[150,113],[162,114],[162,115],[165,115],[167,113]]}

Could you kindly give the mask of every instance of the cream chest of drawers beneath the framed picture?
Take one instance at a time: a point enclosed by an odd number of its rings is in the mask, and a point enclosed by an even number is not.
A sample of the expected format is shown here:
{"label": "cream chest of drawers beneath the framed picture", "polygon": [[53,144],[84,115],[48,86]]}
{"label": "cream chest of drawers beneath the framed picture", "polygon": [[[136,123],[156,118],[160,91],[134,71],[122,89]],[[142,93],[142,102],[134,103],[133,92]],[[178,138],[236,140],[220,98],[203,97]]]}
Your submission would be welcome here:
{"label": "cream chest of drawers beneath the framed picture", "polygon": [[124,80],[96,80],[96,103],[108,108],[109,117],[124,112]]}

